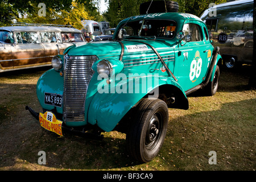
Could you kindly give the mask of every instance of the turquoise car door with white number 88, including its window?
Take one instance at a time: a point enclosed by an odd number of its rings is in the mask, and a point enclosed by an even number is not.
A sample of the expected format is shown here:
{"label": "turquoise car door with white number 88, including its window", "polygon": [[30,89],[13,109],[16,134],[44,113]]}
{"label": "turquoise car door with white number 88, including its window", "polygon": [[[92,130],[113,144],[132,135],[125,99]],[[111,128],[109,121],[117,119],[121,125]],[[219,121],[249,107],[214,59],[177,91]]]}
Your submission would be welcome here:
{"label": "turquoise car door with white number 88, including its window", "polygon": [[207,67],[208,49],[205,47],[205,38],[200,22],[189,21],[183,26],[185,36],[191,39],[181,42],[178,49],[178,71],[179,84],[188,90],[201,84],[205,78],[205,67]]}

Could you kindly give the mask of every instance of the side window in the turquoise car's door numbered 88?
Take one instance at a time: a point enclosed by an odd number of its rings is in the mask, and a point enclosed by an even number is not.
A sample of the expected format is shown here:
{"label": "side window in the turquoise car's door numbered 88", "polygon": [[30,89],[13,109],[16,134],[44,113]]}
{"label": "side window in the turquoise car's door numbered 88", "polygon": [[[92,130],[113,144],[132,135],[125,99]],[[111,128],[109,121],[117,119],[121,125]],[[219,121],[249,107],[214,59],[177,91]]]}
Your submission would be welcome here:
{"label": "side window in the turquoise car's door numbered 88", "polygon": [[191,35],[190,42],[198,42],[203,40],[201,27],[198,24],[187,23],[184,24],[183,32],[186,35]]}

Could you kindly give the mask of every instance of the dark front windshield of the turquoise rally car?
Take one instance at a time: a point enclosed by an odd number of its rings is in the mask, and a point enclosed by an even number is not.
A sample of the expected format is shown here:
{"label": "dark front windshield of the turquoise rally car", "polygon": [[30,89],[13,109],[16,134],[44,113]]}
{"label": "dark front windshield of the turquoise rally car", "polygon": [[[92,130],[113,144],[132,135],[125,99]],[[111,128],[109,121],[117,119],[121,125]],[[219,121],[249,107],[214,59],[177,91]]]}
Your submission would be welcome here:
{"label": "dark front windshield of the turquoise rally car", "polygon": [[176,22],[173,20],[138,20],[129,22],[118,33],[119,39],[175,37]]}

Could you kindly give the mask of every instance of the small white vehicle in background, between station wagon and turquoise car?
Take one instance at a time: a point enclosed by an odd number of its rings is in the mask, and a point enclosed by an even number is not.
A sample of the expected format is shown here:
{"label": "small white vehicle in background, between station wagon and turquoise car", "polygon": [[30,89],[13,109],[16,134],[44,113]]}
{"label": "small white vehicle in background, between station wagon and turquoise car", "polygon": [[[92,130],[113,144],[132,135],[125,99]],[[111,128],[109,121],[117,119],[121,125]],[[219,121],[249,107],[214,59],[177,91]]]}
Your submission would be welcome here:
{"label": "small white vehicle in background, between station wagon and turquoise car", "polygon": [[93,40],[96,36],[102,34],[101,26],[98,22],[93,20],[82,20],[82,32],[84,34],[90,34],[90,38]]}

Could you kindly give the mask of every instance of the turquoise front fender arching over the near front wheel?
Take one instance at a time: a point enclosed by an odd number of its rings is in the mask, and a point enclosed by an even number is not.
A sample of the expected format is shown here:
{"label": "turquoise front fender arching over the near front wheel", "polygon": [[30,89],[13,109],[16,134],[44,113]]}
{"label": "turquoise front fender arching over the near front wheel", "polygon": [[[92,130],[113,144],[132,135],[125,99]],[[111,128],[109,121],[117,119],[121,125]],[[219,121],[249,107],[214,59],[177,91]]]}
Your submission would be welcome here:
{"label": "turquoise front fender arching over the near front wheel", "polygon": [[[154,84],[150,85],[147,81],[145,82],[145,80],[154,80]],[[157,81],[158,84],[155,84]],[[138,92],[138,88],[135,88],[136,86],[138,87],[138,85],[140,86],[140,92]],[[175,88],[183,93],[183,97],[187,100],[184,90],[171,77],[144,76],[127,78],[115,84],[114,87],[110,85],[109,89],[105,89],[106,92],[103,92],[104,90],[102,89],[98,89],[98,92],[90,102],[88,122],[92,124],[97,123],[104,131],[112,131],[131,107],[137,104],[144,96],[148,96],[150,99],[158,98],[158,88],[161,85],[175,86]],[[133,88],[131,89],[132,86]],[[151,91],[154,91],[154,93],[152,93],[152,95],[148,94]]]}

